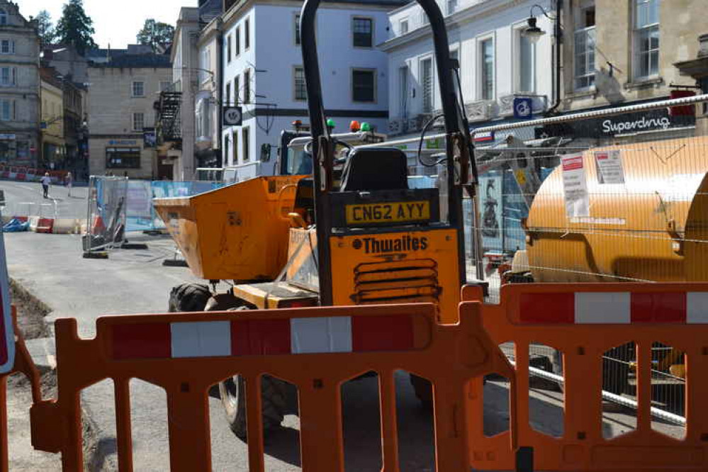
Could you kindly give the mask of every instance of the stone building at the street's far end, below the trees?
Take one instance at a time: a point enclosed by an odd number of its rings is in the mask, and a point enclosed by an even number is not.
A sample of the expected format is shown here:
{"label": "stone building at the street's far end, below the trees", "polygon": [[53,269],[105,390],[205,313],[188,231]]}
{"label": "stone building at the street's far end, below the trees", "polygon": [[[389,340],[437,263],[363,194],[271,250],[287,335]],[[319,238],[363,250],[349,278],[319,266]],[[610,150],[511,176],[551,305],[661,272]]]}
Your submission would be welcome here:
{"label": "stone building at the street's far end, below the trees", "polygon": [[157,152],[150,132],[154,133],[154,102],[171,82],[169,56],[120,55],[110,62],[89,64],[88,77],[91,175],[156,177]]}

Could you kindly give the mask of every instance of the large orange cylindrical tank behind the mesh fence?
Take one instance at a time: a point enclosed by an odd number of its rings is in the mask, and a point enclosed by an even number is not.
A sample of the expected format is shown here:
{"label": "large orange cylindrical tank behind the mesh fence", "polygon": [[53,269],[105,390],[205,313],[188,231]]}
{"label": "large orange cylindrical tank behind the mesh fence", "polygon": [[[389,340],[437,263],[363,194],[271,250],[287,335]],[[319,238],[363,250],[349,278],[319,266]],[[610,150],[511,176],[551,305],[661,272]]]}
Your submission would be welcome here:
{"label": "large orange cylindrical tank behind the mesh fence", "polygon": [[[624,184],[601,184],[594,153],[613,149]],[[536,193],[527,218],[534,280],[708,280],[708,138],[595,148],[583,164],[588,217],[566,215],[561,167]]]}

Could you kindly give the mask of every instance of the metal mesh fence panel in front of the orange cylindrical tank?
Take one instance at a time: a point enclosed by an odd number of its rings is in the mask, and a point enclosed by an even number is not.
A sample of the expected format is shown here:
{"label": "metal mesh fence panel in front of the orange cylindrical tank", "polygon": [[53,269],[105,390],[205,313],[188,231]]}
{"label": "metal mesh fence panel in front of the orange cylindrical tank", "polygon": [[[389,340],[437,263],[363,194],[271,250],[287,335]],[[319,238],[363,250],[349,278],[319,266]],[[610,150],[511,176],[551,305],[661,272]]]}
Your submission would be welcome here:
{"label": "metal mesh fence panel in front of the orange cylindrical tank", "polygon": [[[467,229],[481,250],[468,252],[468,277],[489,283],[488,302],[504,283],[708,280],[708,136],[697,120],[705,99],[475,130],[488,142],[476,147],[479,218]],[[588,316],[602,322],[605,313]],[[619,408],[636,417],[626,408],[636,400],[627,341],[605,353],[603,390],[629,400]],[[558,353],[534,349],[562,372]],[[652,352],[653,404],[683,415],[681,349],[657,339]]]}

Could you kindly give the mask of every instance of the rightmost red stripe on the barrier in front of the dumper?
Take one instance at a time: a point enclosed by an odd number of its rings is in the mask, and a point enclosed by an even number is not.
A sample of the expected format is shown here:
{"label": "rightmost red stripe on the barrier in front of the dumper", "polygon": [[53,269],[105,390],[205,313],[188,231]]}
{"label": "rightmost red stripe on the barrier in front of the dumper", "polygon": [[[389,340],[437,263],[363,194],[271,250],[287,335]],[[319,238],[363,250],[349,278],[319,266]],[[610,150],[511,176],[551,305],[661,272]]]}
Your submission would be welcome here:
{"label": "rightmost red stripe on the barrier in front of the dumper", "polygon": [[407,351],[413,347],[413,320],[408,315],[352,318],[354,352]]}

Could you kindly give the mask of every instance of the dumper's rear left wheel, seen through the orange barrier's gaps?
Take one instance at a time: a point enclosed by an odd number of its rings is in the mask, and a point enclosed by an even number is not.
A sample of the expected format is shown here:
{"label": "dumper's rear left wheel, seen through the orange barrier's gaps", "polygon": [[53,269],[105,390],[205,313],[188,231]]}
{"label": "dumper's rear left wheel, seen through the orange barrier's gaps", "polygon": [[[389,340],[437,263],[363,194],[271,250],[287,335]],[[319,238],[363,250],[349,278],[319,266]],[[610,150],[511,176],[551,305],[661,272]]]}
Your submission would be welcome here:
{"label": "dumper's rear left wheel, seen through the orange barrier's gaps", "polygon": [[[262,376],[263,431],[270,432],[280,426],[287,408],[287,384],[271,376]],[[246,395],[245,382],[241,376],[233,376],[219,383],[221,403],[226,412],[229,427],[240,439],[246,440]]]}

